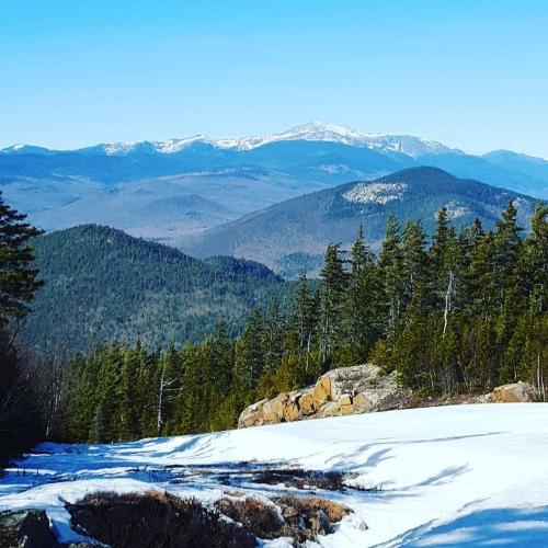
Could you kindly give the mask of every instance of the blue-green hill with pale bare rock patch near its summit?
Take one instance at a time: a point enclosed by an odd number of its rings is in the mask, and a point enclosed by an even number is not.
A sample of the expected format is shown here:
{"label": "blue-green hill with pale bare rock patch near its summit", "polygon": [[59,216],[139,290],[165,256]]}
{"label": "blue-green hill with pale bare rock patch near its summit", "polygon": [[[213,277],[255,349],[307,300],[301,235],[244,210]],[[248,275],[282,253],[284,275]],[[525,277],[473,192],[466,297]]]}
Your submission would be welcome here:
{"label": "blue-green hill with pale bare rock patch near its summit", "polygon": [[[472,180],[457,179],[436,168],[412,168],[376,181],[352,182],[293,198],[242,219],[186,238],[182,249],[196,256],[230,254],[260,261],[278,272],[284,265],[310,261],[332,242],[350,246],[363,225],[376,247],[389,214],[421,219],[426,231],[436,212],[447,207],[455,226],[479,217],[492,227],[509,201],[515,201],[520,221],[527,226],[535,199]],[[300,258],[300,259],[299,259]]]}

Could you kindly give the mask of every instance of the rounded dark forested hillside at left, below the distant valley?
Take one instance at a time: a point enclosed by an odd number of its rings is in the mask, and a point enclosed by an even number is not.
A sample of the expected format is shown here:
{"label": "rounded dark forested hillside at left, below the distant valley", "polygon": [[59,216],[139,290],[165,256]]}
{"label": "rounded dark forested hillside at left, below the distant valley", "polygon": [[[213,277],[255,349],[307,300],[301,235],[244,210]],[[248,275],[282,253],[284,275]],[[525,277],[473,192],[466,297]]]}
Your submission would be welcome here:
{"label": "rounded dark forested hillside at left, below the distant valley", "polygon": [[107,341],[167,347],[201,341],[224,320],[233,336],[253,306],[287,285],[263,265],[192,259],[112,228],[87,225],[37,238],[45,281],[22,329],[34,349],[89,350]]}

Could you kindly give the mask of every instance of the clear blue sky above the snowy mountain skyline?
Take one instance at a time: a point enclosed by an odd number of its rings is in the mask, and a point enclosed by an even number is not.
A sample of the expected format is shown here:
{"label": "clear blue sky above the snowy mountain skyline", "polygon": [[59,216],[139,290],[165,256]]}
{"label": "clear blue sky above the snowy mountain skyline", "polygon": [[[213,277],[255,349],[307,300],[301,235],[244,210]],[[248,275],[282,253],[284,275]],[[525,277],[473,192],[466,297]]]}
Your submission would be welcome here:
{"label": "clear blue sky above the snowy mountain skyline", "polygon": [[548,1],[0,0],[0,147],[309,121],[548,158]]}

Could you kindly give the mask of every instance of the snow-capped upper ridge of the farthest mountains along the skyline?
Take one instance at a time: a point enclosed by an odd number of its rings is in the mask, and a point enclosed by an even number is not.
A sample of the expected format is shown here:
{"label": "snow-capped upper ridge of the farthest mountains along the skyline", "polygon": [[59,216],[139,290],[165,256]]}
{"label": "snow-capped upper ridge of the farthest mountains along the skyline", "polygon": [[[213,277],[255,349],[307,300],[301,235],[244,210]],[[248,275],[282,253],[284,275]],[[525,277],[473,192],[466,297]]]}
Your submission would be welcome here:
{"label": "snow-capped upper ridge of the farthest mountains along the skyline", "polygon": [[[92,147],[77,149],[75,152],[103,153],[106,156],[125,156],[133,152],[148,153],[175,153],[194,142],[204,142],[214,148],[233,149],[238,151],[253,150],[265,145],[279,141],[322,141],[338,142],[351,147],[367,148],[380,152],[399,152],[411,158],[425,155],[442,153],[464,153],[458,149],[452,149],[433,140],[412,135],[388,135],[363,133],[347,126],[336,124],[322,124],[320,122],[309,122],[295,126],[287,132],[279,134],[260,135],[252,137],[241,137],[233,139],[212,139],[204,135],[195,135],[182,139],[169,139],[165,141],[139,141],[139,142],[106,142]],[[13,145],[1,150],[3,153],[28,152],[36,153],[38,147],[28,145]],[[47,150],[47,149],[39,149]]]}

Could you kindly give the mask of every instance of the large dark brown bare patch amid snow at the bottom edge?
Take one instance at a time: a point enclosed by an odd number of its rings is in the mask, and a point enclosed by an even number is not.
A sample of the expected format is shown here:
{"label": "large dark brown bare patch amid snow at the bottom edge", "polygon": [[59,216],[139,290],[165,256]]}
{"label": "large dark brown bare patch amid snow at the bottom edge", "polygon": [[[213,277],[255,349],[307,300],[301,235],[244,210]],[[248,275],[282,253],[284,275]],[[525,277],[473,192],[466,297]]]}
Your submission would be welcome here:
{"label": "large dark brown bare patch amid snow at the bottom edge", "polygon": [[252,548],[255,536],[195,499],[169,493],[89,494],[67,504],[72,526],[113,548]]}

